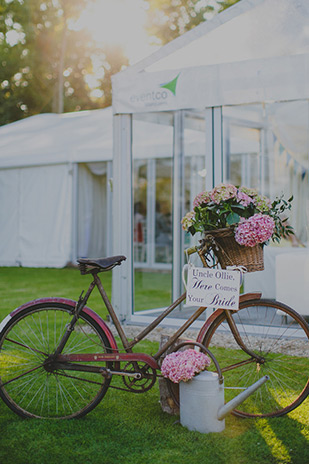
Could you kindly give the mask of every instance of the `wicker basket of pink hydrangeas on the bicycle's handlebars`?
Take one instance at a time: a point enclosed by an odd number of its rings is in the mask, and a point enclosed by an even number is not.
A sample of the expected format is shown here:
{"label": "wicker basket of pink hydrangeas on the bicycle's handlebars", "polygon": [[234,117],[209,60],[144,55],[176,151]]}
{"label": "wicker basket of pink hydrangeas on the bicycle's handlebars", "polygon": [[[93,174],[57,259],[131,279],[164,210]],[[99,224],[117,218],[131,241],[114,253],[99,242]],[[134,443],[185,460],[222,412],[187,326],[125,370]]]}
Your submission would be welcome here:
{"label": "wicker basket of pink hydrangeas on the bicycle's handlebars", "polygon": [[283,218],[292,200],[282,195],[272,202],[254,189],[220,184],[195,197],[182,227],[192,235],[204,235],[222,268],[243,265],[247,272],[263,270],[263,246],[294,233],[288,218]]}

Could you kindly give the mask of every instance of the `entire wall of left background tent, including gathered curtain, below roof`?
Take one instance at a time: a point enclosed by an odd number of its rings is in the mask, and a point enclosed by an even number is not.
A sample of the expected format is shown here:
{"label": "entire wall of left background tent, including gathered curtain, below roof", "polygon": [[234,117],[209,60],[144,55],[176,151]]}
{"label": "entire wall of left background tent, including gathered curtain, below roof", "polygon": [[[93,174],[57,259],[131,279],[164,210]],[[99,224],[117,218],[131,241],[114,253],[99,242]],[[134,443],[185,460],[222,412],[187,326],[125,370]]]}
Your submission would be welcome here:
{"label": "entire wall of left background tent, including gathered curtain, below roof", "polygon": [[64,267],[111,254],[109,167],[0,169],[0,266]]}

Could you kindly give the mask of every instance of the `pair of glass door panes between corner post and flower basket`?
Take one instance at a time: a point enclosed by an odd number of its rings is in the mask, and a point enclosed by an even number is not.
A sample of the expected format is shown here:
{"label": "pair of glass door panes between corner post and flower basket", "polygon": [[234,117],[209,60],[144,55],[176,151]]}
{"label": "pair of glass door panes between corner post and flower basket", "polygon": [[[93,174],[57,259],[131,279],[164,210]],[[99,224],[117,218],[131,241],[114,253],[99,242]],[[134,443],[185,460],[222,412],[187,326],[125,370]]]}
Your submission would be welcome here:
{"label": "pair of glass door panes between corner post and flower basket", "polygon": [[212,182],[206,111],[135,115],[132,131],[134,312],[153,314],[184,291],[184,249],[198,241],[181,219]]}

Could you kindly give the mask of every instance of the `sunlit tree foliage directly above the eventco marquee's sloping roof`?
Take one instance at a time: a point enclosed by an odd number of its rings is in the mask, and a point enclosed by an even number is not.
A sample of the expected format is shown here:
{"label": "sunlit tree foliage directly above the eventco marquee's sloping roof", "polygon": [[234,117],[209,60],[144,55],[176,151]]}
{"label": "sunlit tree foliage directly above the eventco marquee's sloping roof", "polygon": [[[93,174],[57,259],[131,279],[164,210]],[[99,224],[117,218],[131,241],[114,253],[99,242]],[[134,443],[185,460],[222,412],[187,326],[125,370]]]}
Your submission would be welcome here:
{"label": "sunlit tree foliage directly above the eventco marquee's sloping roof", "polygon": [[157,37],[164,45],[238,1],[147,0],[148,33],[150,36]]}

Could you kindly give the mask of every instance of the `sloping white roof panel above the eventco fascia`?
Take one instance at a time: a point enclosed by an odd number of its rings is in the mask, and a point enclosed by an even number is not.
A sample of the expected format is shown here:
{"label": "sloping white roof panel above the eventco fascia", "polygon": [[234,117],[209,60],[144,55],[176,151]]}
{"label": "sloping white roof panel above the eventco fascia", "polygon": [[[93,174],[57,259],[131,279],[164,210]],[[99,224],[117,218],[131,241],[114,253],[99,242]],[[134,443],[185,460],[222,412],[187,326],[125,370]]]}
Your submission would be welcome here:
{"label": "sloping white roof panel above the eventco fascia", "polygon": [[[242,0],[192,30],[147,71],[231,63],[309,52],[307,0]],[[176,39],[177,40],[177,39]],[[179,41],[181,42],[181,41]]]}

